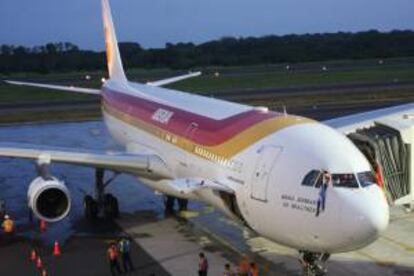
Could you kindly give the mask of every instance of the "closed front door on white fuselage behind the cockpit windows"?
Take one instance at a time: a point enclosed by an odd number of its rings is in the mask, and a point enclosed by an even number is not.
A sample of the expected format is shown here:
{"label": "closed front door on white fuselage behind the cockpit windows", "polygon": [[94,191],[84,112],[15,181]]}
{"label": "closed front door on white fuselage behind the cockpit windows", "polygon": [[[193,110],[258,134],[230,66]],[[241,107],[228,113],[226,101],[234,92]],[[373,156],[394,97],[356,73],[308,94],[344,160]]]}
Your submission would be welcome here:
{"label": "closed front door on white fuselage behind the cockpit windows", "polygon": [[253,171],[251,198],[267,202],[267,190],[271,181],[270,174],[282,152],[282,147],[266,145],[258,150],[259,157]]}

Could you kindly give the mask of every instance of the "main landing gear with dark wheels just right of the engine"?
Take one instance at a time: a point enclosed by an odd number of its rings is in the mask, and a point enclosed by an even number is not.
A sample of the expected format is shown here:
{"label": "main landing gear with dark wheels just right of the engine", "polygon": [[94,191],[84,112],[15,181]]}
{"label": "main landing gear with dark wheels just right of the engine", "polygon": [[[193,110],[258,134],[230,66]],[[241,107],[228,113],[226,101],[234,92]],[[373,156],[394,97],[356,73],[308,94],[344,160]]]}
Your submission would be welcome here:
{"label": "main landing gear with dark wheels just right of the engine", "polygon": [[117,218],[119,216],[118,199],[112,194],[106,194],[105,188],[118,176],[117,173],[107,181],[104,181],[105,170],[95,170],[95,198],[90,195],[83,200],[85,217],[96,219],[102,211],[105,218]]}

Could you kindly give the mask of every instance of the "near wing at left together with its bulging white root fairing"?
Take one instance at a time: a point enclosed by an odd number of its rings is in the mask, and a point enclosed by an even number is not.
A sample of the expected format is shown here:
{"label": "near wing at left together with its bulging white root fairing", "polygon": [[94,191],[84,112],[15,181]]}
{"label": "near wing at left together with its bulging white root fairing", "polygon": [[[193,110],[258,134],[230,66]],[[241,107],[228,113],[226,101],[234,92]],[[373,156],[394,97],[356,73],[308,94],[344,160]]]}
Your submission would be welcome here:
{"label": "near wing at left together with its bulging white root fairing", "polygon": [[230,186],[218,181],[201,178],[174,179],[166,163],[155,154],[74,151],[24,143],[0,143],[0,157],[31,159],[41,164],[65,163],[129,173],[160,181],[164,191],[176,196],[191,196],[204,189],[234,193]]}

